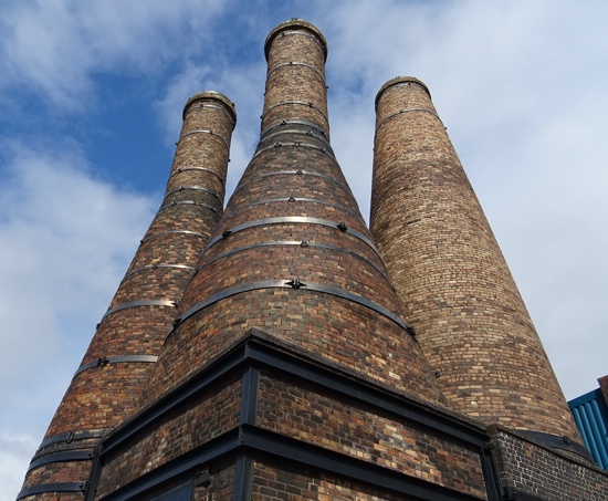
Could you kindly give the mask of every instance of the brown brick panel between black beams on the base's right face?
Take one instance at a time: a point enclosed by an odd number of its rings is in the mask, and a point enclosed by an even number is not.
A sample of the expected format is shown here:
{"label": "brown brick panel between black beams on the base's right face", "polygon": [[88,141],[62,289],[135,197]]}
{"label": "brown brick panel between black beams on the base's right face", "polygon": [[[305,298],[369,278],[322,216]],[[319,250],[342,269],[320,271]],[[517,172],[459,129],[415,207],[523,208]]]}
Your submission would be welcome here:
{"label": "brown brick panel between black beams on the base's right face", "polygon": [[262,376],[258,416],[282,435],[485,498],[475,451],[313,385]]}

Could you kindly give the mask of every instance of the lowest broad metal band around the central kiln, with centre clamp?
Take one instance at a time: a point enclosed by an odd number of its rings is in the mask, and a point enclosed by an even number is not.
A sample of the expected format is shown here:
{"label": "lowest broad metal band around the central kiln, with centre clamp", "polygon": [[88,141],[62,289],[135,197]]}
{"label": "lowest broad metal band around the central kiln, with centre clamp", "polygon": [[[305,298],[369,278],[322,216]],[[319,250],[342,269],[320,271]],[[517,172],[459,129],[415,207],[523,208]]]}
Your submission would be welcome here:
{"label": "lowest broad metal band around the central kiln, with centre clamp", "polygon": [[[297,286],[294,285],[295,282],[297,282]],[[205,310],[207,306],[210,306],[211,304],[214,304],[219,301],[222,301],[227,298],[230,298],[237,294],[242,294],[243,292],[251,292],[251,291],[258,291],[263,289],[297,289],[300,291],[321,292],[324,294],[329,294],[336,298],[340,298],[340,299],[350,301],[353,303],[360,304],[361,306],[368,307],[375,311],[376,313],[379,313],[380,315],[386,316],[388,320],[392,321],[394,323],[399,325],[401,328],[407,331],[408,334],[410,334],[411,336],[415,335],[413,330],[399,315],[392,313],[390,310],[379,305],[378,303],[375,303],[374,301],[368,300],[367,298],[353,294],[352,292],[345,291],[344,289],[332,288],[328,285],[323,285],[321,283],[313,283],[307,281],[302,283],[297,279],[295,281],[294,280],[263,280],[260,282],[249,282],[249,283],[243,283],[241,285],[235,285],[233,288],[224,289],[223,291],[218,292],[217,294],[213,294],[207,300],[201,301],[200,303],[197,303],[192,307],[190,307],[187,312],[185,312],[181,315],[176,326],[182,323],[184,321],[188,320],[190,316],[195,315],[196,313],[200,312],[201,310]],[[175,327],[169,332],[168,336],[170,336],[174,331],[175,331]]]}

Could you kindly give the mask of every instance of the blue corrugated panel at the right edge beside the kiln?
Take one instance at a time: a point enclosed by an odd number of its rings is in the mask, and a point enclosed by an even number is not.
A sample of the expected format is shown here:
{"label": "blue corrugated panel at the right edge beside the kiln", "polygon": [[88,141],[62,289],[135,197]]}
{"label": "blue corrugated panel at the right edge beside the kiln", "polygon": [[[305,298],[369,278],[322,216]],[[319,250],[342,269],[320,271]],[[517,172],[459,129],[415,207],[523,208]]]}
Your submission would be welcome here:
{"label": "blue corrugated panel at the right edge beside the kiln", "polygon": [[583,440],[597,463],[608,469],[608,409],[599,389],[568,401]]}

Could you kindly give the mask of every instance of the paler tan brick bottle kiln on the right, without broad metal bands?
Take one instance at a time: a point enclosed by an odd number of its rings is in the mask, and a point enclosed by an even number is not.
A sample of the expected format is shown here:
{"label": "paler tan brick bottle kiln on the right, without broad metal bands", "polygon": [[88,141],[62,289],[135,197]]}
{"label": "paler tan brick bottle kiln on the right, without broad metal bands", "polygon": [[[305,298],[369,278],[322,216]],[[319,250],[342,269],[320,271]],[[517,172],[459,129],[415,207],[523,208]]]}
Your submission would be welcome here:
{"label": "paler tan brick bottle kiln on the right, without broad metal bands", "polygon": [[376,97],[370,228],[449,405],[486,424],[580,438],[427,86]]}

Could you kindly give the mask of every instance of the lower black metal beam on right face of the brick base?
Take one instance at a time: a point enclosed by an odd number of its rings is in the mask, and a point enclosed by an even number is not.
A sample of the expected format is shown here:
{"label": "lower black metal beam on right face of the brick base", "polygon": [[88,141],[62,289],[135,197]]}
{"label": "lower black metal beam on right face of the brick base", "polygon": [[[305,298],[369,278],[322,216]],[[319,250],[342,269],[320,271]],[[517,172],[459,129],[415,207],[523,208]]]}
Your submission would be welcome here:
{"label": "lower black metal beam on right face of the brick base", "polygon": [[241,437],[243,445],[250,447],[255,452],[265,452],[282,460],[294,461],[306,467],[332,472],[338,477],[347,477],[382,489],[389,489],[419,500],[481,501],[485,499],[262,428],[243,426]]}

